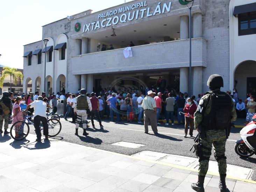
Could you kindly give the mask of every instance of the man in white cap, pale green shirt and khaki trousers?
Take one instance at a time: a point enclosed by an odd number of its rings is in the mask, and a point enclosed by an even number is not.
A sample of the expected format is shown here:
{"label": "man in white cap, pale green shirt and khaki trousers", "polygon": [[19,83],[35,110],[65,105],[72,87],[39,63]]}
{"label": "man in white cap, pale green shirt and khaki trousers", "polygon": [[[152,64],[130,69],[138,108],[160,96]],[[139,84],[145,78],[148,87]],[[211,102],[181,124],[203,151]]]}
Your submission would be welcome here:
{"label": "man in white cap, pale green shirt and khaki trousers", "polygon": [[144,109],[144,128],[145,133],[148,133],[148,125],[151,124],[151,128],[154,134],[157,133],[157,121],[156,121],[156,101],[154,100],[154,92],[148,91],[148,95],[143,99],[141,107]]}

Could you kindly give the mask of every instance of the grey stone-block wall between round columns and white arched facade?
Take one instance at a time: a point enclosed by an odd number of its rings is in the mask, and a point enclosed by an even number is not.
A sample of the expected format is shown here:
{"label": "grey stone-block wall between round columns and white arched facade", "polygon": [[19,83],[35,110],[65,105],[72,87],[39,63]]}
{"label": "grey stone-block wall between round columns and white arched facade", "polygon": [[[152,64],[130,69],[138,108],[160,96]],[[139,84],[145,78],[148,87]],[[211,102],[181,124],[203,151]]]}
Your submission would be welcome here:
{"label": "grey stone-block wall between round columns and white arched facade", "polygon": [[211,74],[220,74],[223,90],[229,89],[229,0],[210,0],[205,3],[202,16],[202,36],[207,41],[207,67],[203,69],[202,91]]}

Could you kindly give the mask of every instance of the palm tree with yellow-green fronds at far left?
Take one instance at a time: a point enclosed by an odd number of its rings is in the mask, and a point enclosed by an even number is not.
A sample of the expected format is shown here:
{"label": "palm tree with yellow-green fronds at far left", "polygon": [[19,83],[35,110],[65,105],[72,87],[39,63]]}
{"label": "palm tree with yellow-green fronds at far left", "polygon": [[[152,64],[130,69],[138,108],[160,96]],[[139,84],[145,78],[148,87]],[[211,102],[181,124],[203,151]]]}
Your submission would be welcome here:
{"label": "palm tree with yellow-green fronds at far left", "polygon": [[7,76],[10,76],[10,91],[12,92],[12,77],[14,79],[14,85],[17,85],[19,78],[23,79],[23,73],[17,71],[16,68],[3,67],[2,76],[0,77],[0,87],[3,88],[3,82]]}

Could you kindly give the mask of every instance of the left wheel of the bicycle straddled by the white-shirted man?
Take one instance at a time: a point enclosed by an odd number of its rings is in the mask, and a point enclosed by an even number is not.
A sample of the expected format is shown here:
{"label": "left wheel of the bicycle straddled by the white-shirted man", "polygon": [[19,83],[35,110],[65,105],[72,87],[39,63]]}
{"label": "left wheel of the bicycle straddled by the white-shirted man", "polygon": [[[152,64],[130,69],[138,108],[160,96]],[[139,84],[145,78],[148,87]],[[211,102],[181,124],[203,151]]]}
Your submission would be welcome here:
{"label": "left wheel of the bicycle straddled by the white-shirted man", "polygon": [[29,125],[24,121],[17,121],[13,123],[10,128],[10,135],[14,140],[20,141],[28,136]]}

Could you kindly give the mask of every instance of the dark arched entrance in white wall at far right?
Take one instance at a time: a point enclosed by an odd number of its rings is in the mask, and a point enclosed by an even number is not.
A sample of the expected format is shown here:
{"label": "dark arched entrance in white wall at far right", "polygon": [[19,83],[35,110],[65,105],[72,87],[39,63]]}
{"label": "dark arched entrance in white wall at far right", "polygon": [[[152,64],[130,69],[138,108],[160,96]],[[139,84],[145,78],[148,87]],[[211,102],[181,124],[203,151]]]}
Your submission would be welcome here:
{"label": "dark arched entrance in white wall at far right", "polygon": [[242,100],[246,99],[247,93],[256,95],[256,61],[244,61],[236,67],[234,88]]}

